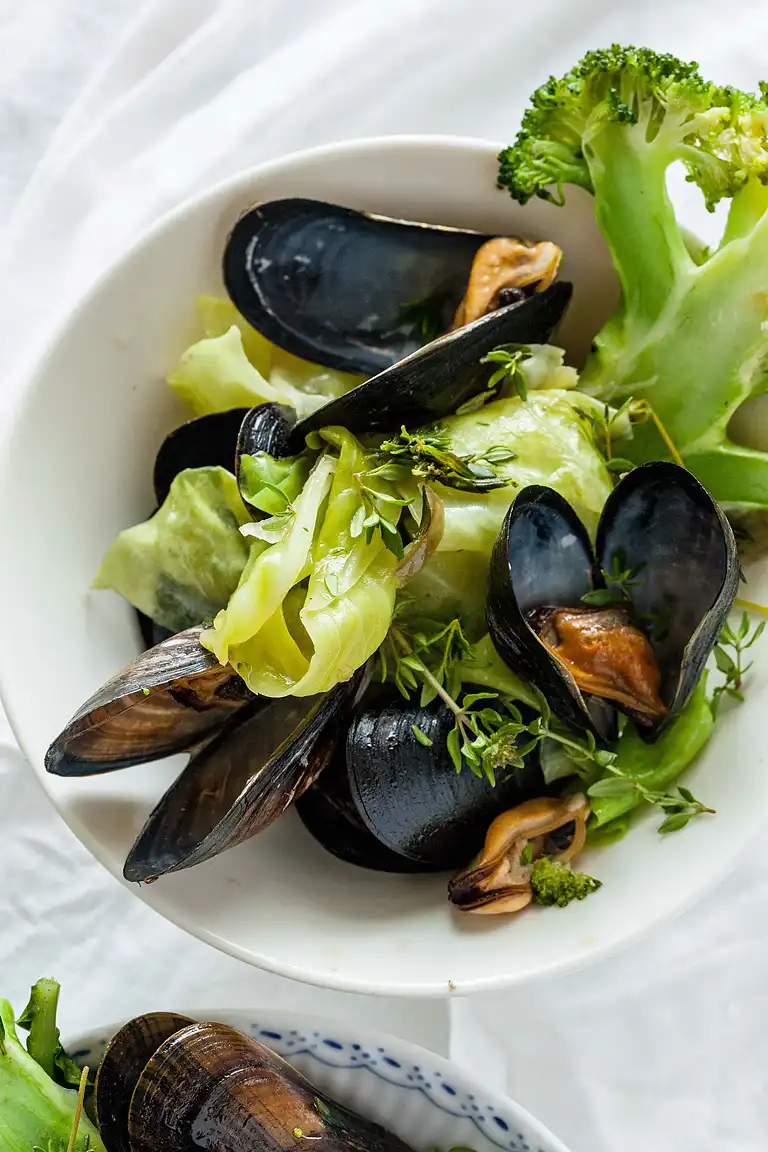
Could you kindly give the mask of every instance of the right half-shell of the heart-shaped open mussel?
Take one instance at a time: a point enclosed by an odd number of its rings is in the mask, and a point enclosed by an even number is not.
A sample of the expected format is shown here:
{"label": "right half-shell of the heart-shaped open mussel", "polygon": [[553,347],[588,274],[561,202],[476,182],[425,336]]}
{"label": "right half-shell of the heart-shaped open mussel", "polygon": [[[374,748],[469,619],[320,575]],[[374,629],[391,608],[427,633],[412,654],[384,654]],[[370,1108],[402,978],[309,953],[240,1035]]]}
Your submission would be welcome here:
{"label": "right half-shell of the heart-shaped open mussel", "polygon": [[[655,738],[697,685],[739,583],[736,540],[701,484],[667,462],[636,468],[606,501],[595,544],[599,567],[631,570],[632,614],[653,644],[668,713]],[[607,581],[610,589],[611,583]]]}

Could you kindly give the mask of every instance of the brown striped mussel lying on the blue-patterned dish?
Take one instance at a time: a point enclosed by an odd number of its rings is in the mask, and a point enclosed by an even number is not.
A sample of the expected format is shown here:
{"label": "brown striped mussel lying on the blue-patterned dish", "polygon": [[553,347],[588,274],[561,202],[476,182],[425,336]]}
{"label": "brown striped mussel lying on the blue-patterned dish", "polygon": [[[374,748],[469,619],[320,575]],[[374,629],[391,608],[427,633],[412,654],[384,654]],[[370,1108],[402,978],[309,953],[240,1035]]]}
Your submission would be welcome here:
{"label": "brown striped mussel lying on the blue-patterned dish", "polygon": [[107,1046],[89,1111],[108,1152],[410,1152],[226,1024],[138,1016]]}

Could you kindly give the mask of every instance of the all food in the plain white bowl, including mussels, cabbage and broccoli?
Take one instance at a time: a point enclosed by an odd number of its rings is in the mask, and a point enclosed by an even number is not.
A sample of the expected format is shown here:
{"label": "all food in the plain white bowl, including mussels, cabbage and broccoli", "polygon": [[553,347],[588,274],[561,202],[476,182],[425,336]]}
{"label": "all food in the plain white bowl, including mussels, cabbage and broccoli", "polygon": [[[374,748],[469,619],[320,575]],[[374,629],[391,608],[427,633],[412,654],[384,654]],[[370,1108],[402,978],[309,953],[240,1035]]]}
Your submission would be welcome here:
{"label": "all food in the plain white bowl, including mussels, cabbage and broccoli", "polygon": [[[511,914],[596,892],[580,852],[638,810],[663,833],[715,816],[680,776],[762,630],[759,605],[730,614],[768,455],[729,427],[766,391],[767,124],[645,50],[534,94],[500,184],[591,192],[622,287],[584,364],[548,236],[291,198],[233,220],[226,295],[168,376],[189,418],[154,508],[96,576],[143,651],[46,760],[188,753],[127,879],[295,806],[349,866],[446,872],[456,912]],[[676,161],[731,202],[712,251],[675,217]]]}

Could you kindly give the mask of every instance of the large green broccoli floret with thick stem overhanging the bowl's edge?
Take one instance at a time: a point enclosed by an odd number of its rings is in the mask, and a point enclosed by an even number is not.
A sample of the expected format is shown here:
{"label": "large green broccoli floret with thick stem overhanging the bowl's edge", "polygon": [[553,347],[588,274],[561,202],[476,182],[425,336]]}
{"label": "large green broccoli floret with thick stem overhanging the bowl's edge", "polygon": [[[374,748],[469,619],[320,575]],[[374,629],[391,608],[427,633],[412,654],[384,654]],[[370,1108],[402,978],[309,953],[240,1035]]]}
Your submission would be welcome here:
{"label": "large green broccoli floret with thick stem overhanging the bowl's edge", "polygon": [[[685,464],[722,502],[768,507],[768,453],[733,444],[728,423],[768,391],[768,89],[705,81],[697,65],[617,45],[590,52],[532,98],[499,182],[520,203],[594,195],[622,304],[596,336],[581,387],[640,396]],[[720,245],[690,252],[667,191],[670,165],[713,209],[730,200]],[[668,455],[653,424],[622,455]]]}

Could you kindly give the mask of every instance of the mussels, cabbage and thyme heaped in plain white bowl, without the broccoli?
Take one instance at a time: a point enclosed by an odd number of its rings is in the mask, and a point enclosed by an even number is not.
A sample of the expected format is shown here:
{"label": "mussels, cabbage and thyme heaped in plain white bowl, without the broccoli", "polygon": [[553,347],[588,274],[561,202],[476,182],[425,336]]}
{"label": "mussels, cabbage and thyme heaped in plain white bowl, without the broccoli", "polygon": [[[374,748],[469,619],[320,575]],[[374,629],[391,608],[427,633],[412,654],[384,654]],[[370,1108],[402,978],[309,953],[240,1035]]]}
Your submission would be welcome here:
{"label": "mussels, cabbage and thyme heaped in plain white bowl, without the broccoli", "polygon": [[189,753],[128,879],[296,803],[349,864],[461,870],[458,910],[568,903],[599,886],[570,864],[622,750],[701,746],[676,720],[736,593],[733,536],[675,464],[614,486],[609,410],[546,342],[561,255],[311,200],[236,223],[231,303],[203,303],[169,377],[193,418],[97,577],[160,643],[46,758]]}

